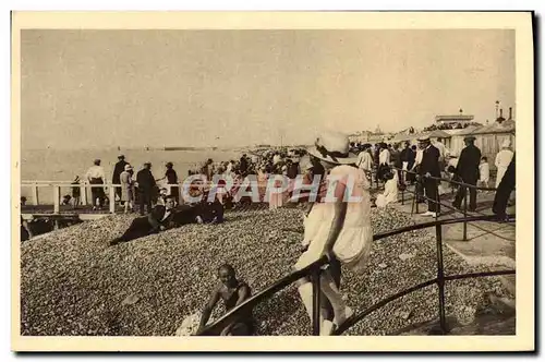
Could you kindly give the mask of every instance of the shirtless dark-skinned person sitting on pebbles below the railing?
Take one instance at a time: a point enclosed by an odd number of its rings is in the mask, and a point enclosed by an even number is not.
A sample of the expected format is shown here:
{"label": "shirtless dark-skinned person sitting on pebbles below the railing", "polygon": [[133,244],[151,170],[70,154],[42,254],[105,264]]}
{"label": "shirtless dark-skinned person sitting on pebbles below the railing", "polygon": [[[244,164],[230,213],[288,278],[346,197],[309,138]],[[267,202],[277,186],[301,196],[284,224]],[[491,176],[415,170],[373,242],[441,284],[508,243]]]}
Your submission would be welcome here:
{"label": "shirtless dark-skinned person sitting on pebbles below the railing", "polygon": [[[237,279],[234,268],[229,264],[223,264],[218,269],[220,283],[214,289],[208,303],[206,303],[198,331],[203,330],[210,318],[214,307],[219,299],[223,301],[226,313],[238,306],[252,295],[250,287]],[[197,331],[197,334],[198,334]],[[223,328],[220,336],[252,336],[254,334],[254,319],[252,311],[239,314],[227,327]]]}

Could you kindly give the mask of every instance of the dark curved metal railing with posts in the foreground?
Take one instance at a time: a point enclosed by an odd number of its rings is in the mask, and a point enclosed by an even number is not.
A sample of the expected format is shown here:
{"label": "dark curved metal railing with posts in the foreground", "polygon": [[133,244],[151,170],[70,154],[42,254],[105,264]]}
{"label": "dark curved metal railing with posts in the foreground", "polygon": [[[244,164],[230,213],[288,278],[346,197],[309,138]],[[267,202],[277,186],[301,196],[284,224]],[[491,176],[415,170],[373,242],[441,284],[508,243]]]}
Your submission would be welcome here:
{"label": "dark curved metal railing with posts in the foreground", "polygon": [[[445,220],[434,220],[429,222],[422,222],[422,224],[416,224],[416,225],[411,225],[402,228],[398,228],[395,230],[377,233],[373,237],[373,240],[380,240],[385,239],[388,237],[397,236],[403,232],[408,231],[413,231],[413,230],[420,230],[420,229],[425,229],[429,227],[435,227],[435,233],[436,233],[436,248],[437,248],[437,277],[431,280],[426,280],[424,282],[421,282],[416,286],[410,287],[405,290],[402,290],[393,295],[390,295],[376,304],[370,306],[365,311],[363,311],[360,314],[356,314],[350,318],[348,318],[343,324],[341,324],[335,331],[334,335],[341,335],[342,333],[347,331],[350,327],[352,327],[354,324],[363,319],[366,315],[371,314],[372,312],[376,311],[377,309],[399,299],[402,298],[407,294],[410,294],[414,291],[417,291],[420,289],[426,288],[432,285],[437,285],[438,286],[438,315],[439,315],[439,333],[440,334],[447,334],[448,328],[446,324],[446,315],[445,315],[445,282],[449,280],[458,280],[458,279],[467,279],[467,278],[479,278],[479,277],[491,277],[491,276],[501,276],[501,275],[512,275],[516,273],[513,269],[509,270],[495,270],[495,272],[483,272],[483,273],[471,273],[471,274],[460,274],[460,275],[449,275],[445,276],[445,267],[443,264],[443,226],[444,225],[451,225],[451,224],[459,224],[459,222],[469,222],[469,221],[495,221],[495,222],[514,222],[514,215],[509,215],[506,219],[502,219],[501,221],[497,220],[497,217],[495,215],[485,215],[485,216],[472,216],[472,217],[464,217],[464,218],[459,218],[459,219],[445,219]],[[277,280],[269,287],[265,288],[257,294],[251,297],[240,305],[235,306],[231,311],[229,311],[227,314],[223,316],[219,317],[217,321],[214,323],[207,325],[203,330],[198,333],[199,336],[215,336],[219,335],[219,333],[235,318],[240,313],[246,313],[250,310],[252,310],[255,305],[258,303],[263,302],[266,299],[269,299],[274,293],[287,288],[291,283],[295,282],[296,280],[303,278],[303,277],[311,277],[311,281],[313,285],[313,335],[318,336],[319,335],[319,309],[320,309],[320,293],[319,291],[319,275],[322,272],[322,267],[326,266],[329,264],[329,261],[327,260],[326,256],[322,257],[320,260],[314,262],[313,264],[308,265],[304,269],[293,272],[289,274],[288,276]]]}

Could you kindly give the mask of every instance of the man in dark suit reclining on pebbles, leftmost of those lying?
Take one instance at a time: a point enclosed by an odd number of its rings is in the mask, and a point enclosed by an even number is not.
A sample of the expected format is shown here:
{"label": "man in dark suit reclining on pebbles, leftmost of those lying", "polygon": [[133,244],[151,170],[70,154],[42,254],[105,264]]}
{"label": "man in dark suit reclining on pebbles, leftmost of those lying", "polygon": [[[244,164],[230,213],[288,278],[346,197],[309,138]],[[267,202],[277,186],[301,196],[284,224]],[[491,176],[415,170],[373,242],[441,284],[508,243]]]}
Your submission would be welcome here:
{"label": "man in dark suit reclining on pebbles, leftmost of those lying", "polygon": [[110,241],[110,245],[117,245],[121,242],[128,242],[171,229],[177,226],[174,215],[174,198],[169,195],[167,196],[165,206],[157,205],[147,216],[135,218],[121,237]]}

